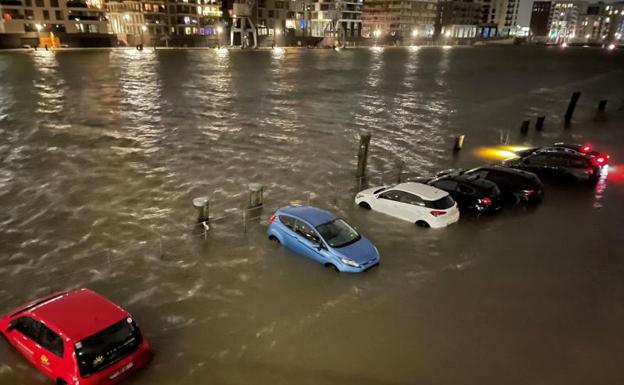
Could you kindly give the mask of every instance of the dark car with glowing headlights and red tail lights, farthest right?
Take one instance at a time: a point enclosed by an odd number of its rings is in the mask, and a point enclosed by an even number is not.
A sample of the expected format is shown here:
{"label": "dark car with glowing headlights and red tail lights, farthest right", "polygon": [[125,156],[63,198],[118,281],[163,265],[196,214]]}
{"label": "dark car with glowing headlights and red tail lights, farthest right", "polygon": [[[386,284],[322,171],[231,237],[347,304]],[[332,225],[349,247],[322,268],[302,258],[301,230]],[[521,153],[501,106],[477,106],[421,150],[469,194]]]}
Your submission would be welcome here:
{"label": "dark car with glowing headlights and red tail lights, farthest right", "polygon": [[576,181],[598,181],[607,155],[594,155],[554,145],[518,153],[519,158],[503,162],[504,166],[530,171],[541,177],[564,177]]}

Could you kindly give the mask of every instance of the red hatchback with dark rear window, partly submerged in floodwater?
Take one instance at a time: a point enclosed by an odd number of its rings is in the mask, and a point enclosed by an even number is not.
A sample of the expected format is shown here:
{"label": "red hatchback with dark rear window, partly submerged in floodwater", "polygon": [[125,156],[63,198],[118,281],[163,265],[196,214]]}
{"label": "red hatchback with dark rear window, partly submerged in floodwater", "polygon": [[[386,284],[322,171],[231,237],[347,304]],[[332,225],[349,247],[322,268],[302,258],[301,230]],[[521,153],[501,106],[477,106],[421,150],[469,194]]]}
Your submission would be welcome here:
{"label": "red hatchback with dark rear window, partly submerged in floodwater", "polygon": [[58,385],[116,384],[152,358],[130,314],[88,289],[19,307],[0,318],[0,332]]}

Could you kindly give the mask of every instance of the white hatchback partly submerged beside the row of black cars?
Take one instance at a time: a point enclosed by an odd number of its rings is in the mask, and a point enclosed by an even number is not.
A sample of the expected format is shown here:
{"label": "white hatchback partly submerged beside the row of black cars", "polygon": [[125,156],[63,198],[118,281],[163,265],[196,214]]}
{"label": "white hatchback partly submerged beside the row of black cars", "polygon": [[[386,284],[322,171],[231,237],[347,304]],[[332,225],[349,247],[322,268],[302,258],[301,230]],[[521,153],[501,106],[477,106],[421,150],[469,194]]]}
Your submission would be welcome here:
{"label": "white hatchback partly submerged beside the row of black cars", "polygon": [[457,203],[443,190],[422,183],[401,183],[360,191],[355,203],[423,227],[440,228],[459,220]]}

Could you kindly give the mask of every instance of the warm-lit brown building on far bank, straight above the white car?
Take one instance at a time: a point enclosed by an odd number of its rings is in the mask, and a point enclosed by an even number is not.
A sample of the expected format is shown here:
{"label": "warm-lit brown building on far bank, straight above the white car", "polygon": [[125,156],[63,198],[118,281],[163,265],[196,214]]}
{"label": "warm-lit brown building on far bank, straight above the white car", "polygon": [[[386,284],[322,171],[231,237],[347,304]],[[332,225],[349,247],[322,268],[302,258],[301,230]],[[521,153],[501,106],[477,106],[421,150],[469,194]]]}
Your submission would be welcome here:
{"label": "warm-lit brown building on far bank, straight above the white car", "polygon": [[435,0],[367,0],[362,8],[362,35],[398,39],[432,37],[437,18]]}

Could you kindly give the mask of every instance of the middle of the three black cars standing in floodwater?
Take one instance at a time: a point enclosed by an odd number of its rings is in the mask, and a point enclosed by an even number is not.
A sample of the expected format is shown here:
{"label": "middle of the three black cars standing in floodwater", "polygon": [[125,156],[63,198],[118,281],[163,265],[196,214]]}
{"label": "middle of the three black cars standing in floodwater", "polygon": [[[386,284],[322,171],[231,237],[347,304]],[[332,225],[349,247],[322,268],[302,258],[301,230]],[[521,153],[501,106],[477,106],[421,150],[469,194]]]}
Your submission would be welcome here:
{"label": "middle of the three black cars standing in floodwater", "polygon": [[503,199],[511,204],[539,203],[544,198],[544,184],[531,172],[498,165],[488,165],[462,172],[496,183]]}

